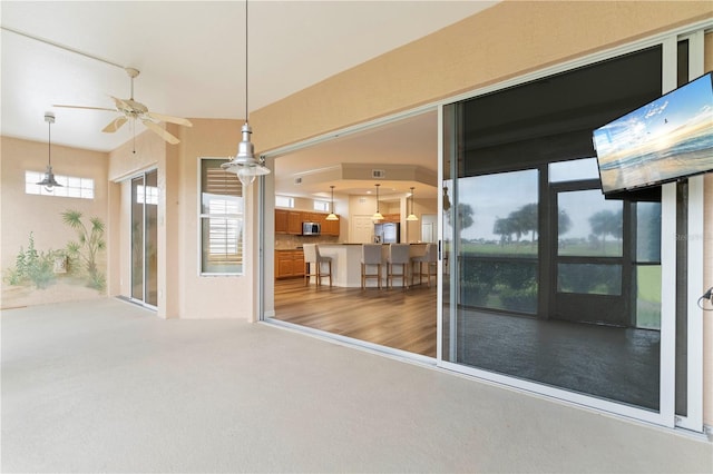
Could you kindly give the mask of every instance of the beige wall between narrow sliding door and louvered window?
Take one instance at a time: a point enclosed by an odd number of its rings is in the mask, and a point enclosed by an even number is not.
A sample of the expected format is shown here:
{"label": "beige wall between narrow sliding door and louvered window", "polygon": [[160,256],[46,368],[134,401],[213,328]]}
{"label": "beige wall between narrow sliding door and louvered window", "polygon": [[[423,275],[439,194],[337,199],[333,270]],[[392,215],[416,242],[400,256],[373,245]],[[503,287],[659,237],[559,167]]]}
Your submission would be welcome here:
{"label": "beige wall between narrow sliding door and louvered window", "polygon": [[[152,132],[110,154],[109,176],[121,181],[120,294],[130,294],[130,187],[136,174],[158,170],[158,316],[252,319],[253,269],[244,276],[201,277],[198,240],[198,157],[227,157],[240,141],[238,120],[192,119],[192,128],[172,126],[182,142],[166,145]],[[248,213],[250,214],[250,213]],[[250,223],[247,224],[250,225]]]}

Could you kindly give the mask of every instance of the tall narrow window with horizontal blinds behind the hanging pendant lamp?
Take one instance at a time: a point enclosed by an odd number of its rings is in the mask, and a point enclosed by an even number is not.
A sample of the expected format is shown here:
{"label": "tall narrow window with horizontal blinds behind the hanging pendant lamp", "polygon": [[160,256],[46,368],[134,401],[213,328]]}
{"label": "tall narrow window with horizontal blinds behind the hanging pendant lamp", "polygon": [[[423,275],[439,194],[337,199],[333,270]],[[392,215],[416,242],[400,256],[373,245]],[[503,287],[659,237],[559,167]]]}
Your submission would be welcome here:
{"label": "tall narrow window with horizontal blinds behind the hanging pendant lamp", "polygon": [[243,273],[243,187],[223,162],[201,160],[201,275]]}

